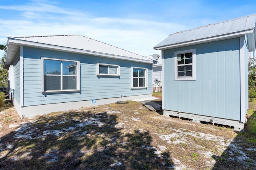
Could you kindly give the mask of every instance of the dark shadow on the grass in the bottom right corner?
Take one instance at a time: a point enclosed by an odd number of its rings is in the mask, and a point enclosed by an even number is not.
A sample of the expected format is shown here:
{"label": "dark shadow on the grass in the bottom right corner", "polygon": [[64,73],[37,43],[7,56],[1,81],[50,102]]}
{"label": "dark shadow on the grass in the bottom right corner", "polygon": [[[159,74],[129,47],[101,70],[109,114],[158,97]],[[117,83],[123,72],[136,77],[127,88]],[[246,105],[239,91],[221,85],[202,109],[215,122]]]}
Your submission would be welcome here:
{"label": "dark shadow on the grass in the bottom right corner", "polygon": [[256,111],[249,117],[244,132],[230,143],[216,160],[213,170],[252,170],[256,169]]}

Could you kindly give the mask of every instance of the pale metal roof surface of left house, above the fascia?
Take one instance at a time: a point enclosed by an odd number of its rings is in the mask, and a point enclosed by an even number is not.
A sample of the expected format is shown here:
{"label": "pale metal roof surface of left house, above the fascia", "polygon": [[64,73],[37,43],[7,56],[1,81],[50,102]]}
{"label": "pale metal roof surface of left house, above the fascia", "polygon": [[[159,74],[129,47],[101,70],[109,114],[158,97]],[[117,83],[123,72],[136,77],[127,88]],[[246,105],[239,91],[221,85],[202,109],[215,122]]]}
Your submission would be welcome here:
{"label": "pale metal roof surface of left house, above the fascia", "polygon": [[85,37],[82,35],[49,35],[49,36],[32,36],[32,37],[13,37],[14,39],[36,42],[40,44],[55,45],[60,47],[67,47],[73,49],[86,50],[102,54],[109,54],[122,57],[130,57],[133,59],[140,59],[150,61],[148,58],[120,49],[118,47],[102,43],[95,39]]}

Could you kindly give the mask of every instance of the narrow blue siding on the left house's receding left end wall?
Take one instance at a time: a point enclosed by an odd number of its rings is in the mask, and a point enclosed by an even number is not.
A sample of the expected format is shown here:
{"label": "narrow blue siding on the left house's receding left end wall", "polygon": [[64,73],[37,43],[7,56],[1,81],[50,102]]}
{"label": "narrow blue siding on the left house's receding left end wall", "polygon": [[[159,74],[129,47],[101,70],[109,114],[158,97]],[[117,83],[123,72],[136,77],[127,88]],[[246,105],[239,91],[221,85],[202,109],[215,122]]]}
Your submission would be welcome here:
{"label": "narrow blue siding on the left house's receding left end wall", "polygon": [[14,61],[14,98],[20,104],[20,58]]}

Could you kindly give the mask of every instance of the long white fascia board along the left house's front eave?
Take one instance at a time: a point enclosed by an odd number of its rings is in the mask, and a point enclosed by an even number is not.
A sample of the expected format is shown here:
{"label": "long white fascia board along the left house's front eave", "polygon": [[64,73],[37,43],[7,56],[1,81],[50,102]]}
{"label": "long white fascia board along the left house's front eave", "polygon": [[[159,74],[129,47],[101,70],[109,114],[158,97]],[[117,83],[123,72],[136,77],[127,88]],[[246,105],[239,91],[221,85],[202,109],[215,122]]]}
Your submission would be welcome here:
{"label": "long white fascia board along the left house's front eave", "polygon": [[94,55],[99,57],[106,57],[111,59],[119,59],[119,60],[127,60],[127,61],[136,61],[140,63],[152,63],[152,61],[142,60],[142,59],[134,59],[130,57],[124,57],[124,56],[118,56],[118,55],[110,55],[105,53],[98,53],[95,51],[86,51],[82,49],[73,49],[69,47],[61,47],[56,45],[50,45],[50,44],[42,44],[42,43],[36,43],[31,41],[24,41],[24,40],[17,40],[17,39],[9,39],[10,43],[15,43],[17,45],[23,45],[28,47],[39,47],[42,49],[51,49],[51,50],[57,50],[57,51],[66,51],[71,53],[79,53],[79,54],[88,54],[88,55]]}

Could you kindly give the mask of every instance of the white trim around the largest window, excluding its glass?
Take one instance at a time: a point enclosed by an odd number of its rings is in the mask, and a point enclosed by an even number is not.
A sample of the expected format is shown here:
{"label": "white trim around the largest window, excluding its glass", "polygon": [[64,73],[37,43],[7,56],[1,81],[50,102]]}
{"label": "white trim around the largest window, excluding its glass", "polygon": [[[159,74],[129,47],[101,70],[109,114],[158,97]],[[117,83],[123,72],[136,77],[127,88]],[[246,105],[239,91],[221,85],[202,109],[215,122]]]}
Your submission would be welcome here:
{"label": "white trim around the largest window, excluding its glass", "polygon": [[[68,61],[68,62],[75,62],[76,65],[76,90],[44,90],[44,60],[55,60],[55,61]],[[61,68],[61,74],[62,74],[62,68]],[[60,85],[62,89],[62,84]],[[41,57],[41,90],[42,93],[56,93],[56,92],[78,92],[80,91],[80,61],[74,61],[74,60],[65,60],[65,59],[52,59],[47,57]]]}

